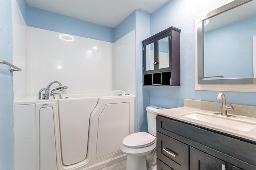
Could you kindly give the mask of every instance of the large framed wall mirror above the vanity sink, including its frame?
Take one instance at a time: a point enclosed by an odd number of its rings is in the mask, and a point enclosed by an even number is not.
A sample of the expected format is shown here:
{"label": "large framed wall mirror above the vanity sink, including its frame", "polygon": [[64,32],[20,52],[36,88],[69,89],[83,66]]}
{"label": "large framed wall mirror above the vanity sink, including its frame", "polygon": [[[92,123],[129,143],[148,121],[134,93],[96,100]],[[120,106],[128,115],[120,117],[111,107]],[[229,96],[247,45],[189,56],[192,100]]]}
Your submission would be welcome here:
{"label": "large framed wall mirror above the vanity sink, including its frame", "polygon": [[256,84],[255,9],[256,0],[233,0],[196,16],[196,86]]}

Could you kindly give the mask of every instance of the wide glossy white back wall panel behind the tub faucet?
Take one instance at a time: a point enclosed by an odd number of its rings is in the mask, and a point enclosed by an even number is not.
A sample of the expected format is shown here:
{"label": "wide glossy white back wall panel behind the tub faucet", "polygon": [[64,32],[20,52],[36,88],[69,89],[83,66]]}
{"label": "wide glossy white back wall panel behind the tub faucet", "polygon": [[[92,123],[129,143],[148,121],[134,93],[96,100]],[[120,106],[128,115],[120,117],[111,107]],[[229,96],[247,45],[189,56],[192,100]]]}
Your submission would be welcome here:
{"label": "wide glossy white back wall panel behind the tub faucet", "polygon": [[28,95],[52,81],[68,86],[68,94],[113,90],[113,43],[74,35],[74,41],[64,41],[61,34],[28,27]]}

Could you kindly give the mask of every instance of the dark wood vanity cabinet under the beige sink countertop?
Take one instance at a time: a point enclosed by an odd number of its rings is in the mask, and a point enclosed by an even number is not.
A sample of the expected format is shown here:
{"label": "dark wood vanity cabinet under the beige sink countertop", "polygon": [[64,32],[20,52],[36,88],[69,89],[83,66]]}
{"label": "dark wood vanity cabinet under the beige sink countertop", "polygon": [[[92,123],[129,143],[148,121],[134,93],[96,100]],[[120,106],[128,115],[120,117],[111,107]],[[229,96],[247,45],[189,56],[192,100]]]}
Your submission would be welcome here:
{"label": "dark wood vanity cabinet under the beige sink countertop", "polygon": [[256,170],[255,141],[160,115],[156,121],[157,170]]}

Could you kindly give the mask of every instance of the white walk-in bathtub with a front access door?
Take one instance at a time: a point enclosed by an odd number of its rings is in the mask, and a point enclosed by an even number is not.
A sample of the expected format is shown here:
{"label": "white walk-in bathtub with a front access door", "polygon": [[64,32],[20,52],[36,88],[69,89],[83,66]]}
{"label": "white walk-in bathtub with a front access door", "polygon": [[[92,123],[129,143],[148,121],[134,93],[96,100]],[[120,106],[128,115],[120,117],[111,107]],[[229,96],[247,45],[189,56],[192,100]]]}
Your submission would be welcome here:
{"label": "white walk-in bathtub with a front access door", "polygon": [[134,133],[134,95],[63,94],[35,106],[36,170],[97,170],[126,158],[119,147]]}

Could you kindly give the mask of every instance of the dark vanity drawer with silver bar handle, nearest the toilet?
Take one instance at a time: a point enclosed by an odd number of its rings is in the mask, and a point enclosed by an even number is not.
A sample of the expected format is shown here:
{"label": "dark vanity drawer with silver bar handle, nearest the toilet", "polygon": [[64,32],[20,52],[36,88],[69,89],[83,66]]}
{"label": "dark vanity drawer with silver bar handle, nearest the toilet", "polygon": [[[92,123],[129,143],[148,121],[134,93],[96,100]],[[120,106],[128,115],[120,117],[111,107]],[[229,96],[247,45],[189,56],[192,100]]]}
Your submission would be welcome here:
{"label": "dark vanity drawer with silver bar handle, nearest the toilet", "polygon": [[188,170],[189,146],[157,132],[157,158],[175,170]]}

